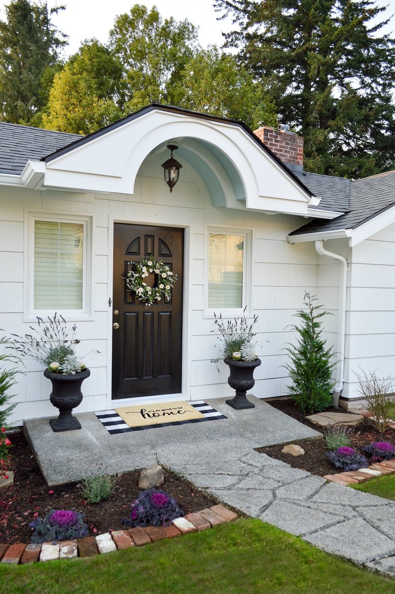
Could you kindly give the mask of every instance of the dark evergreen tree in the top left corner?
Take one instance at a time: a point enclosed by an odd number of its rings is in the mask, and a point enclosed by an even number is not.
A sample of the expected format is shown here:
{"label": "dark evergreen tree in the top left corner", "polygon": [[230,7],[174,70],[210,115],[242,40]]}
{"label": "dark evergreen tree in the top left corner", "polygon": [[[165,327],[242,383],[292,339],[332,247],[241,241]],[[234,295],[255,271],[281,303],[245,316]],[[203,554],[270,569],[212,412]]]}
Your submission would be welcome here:
{"label": "dark evergreen tree in the top left corner", "polygon": [[66,36],[52,25],[46,3],[11,0],[0,21],[0,119],[28,124],[46,101],[42,78],[47,84],[55,73]]}

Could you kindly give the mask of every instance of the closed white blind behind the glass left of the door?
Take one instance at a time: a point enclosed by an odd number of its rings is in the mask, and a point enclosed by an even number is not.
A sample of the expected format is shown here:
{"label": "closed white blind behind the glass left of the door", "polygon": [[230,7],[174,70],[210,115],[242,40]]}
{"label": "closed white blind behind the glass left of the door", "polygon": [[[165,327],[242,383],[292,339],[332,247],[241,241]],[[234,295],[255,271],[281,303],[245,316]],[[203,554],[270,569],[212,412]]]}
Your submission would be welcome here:
{"label": "closed white blind behind the glass left of the door", "polygon": [[34,309],[82,309],[84,225],[34,222]]}

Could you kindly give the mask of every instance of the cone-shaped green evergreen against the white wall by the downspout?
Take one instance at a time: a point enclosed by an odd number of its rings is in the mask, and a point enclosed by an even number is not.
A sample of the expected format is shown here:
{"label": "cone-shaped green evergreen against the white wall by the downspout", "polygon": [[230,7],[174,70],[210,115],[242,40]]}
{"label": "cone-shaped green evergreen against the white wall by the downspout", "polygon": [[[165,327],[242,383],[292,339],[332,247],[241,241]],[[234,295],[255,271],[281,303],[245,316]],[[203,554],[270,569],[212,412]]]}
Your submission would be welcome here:
{"label": "cone-shaped green evergreen against the white wall by the downspout", "polygon": [[285,347],[291,362],[284,365],[292,380],[287,386],[292,400],[298,409],[307,414],[322,412],[332,406],[332,369],[334,355],[332,347],[326,348],[326,340],[321,339],[320,318],[329,314],[318,311],[321,305],[314,305],[317,298],[305,293],[304,304],[307,309],[300,309],[295,316],[301,324],[292,326],[299,334],[296,345],[288,343]]}

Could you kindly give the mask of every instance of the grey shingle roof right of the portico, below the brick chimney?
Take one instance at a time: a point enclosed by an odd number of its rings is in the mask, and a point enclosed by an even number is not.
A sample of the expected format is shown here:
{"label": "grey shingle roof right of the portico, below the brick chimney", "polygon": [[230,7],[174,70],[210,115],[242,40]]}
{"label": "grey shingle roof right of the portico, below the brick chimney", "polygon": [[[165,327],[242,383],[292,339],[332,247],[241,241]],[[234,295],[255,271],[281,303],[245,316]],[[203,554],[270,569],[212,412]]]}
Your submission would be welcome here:
{"label": "grey shingle roof right of the portico, below the brick chimney", "polygon": [[[308,179],[315,176],[314,173],[308,174]],[[316,176],[317,177],[317,176]],[[325,176],[319,176],[325,177]],[[329,178],[330,180],[336,178]],[[347,181],[347,180],[345,180]],[[319,181],[314,179],[315,183]],[[304,182],[307,186],[308,181]],[[334,187],[334,201],[335,204]],[[321,195],[317,192],[317,195]],[[320,206],[322,204],[320,202]],[[325,221],[322,219],[314,219],[290,233],[290,235],[303,235],[305,233],[317,233],[321,231],[335,231],[340,229],[356,229],[363,223],[374,218],[387,208],[395,206],[395,170],[386,173],[378,173],[369,178],[352,179],[350,180],[350,197],[348,203],[348,211],[340,215],[336,219]],[[333,208],[333,210],[343,210],[342,208]]]}

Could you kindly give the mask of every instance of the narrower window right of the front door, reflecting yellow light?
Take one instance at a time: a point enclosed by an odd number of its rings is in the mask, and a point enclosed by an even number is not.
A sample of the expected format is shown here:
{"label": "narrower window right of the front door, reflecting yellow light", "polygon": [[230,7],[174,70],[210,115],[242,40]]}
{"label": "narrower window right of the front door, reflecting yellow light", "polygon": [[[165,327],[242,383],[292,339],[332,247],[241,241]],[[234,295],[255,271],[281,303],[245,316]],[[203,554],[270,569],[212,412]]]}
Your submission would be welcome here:
{"label": "narrower window right of the front door, reflecting yellow light", "polygon": [[243,307],[245,233],[209,232],[208,308]]}

